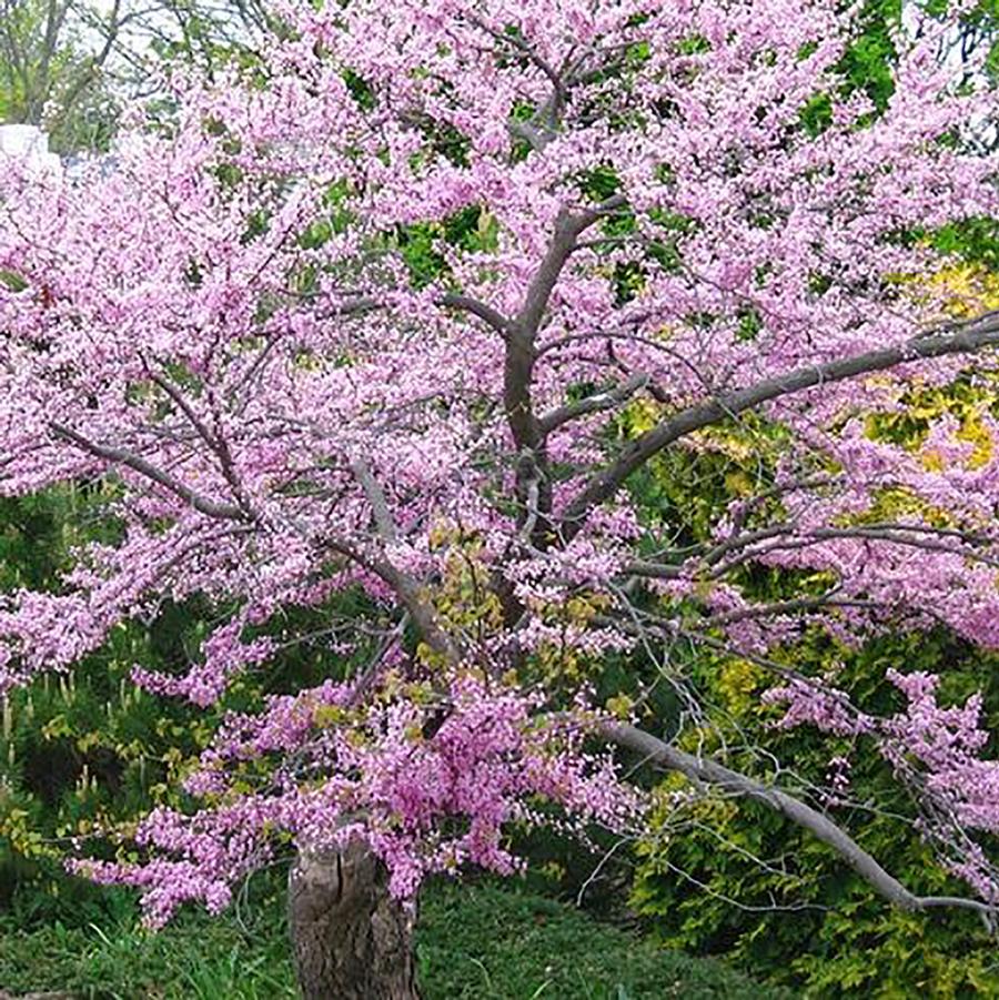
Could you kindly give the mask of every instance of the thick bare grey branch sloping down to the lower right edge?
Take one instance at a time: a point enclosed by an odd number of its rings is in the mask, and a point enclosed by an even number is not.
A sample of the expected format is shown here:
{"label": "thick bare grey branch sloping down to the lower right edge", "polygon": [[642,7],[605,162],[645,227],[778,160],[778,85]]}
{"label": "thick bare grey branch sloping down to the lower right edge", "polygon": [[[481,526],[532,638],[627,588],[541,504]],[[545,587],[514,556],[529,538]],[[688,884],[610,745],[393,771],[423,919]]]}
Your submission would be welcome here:
{"label": "thick bare grey branch sloping down to the lower right edge", "polygon": [[693,781],[716,785],[734,795],[745,796],[776,809],[793,822],[804,827],[824,844],[829,845],[871,888],[892,906],[904,910],[927,910],[934,907],[962,907],[976,910],[987,921],[996,916],[996,908],[977,899],[951,896],[916,896],[898,879],[889,875],[831,819],[794,796],[764,785],[717,761],[695,757],[669,746],[662,739],[625,723],[605,723],[602,735],[610,743],[640,754],[646,760],[669,770],[679,771]]}

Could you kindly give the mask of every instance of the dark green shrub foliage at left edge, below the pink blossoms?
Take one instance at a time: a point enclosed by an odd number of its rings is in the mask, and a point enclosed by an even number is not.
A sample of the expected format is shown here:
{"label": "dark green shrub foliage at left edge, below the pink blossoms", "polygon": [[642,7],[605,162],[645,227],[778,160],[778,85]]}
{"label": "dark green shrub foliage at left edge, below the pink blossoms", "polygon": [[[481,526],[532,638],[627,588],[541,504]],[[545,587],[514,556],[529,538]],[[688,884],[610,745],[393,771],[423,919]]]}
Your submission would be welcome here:
{"label": "dark green shrub foliage at left edge, below the pink blossoms", "polygon": [[0,902],[26,921],[57,919],[103,898],[67,881],[62,857],[71,838],[100,850],[100,831],[180,800],[175,782],[214,715],[143,694],[129,673],[137,661],[168,668],[185,661],[204,615],[195,604],[164,607],[149,630],[141,623],[119,628],[77,670],[47,676],[4,701]]}

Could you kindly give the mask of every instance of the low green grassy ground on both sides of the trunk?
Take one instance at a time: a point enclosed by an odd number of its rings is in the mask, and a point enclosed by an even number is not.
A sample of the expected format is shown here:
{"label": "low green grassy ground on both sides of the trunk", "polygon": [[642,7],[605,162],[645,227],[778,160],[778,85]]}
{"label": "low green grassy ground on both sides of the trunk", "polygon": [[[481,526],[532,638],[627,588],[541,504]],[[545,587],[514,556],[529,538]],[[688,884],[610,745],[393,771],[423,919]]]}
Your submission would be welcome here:
{"label": "low green grassy ground on both sides of the trunk", "polygon": [[[725,966],[662,951],[563,905],[492,886],[434,886],[417,942],[426,1000],[774,998]],[[293,998],[276,897],[159,935],[120,921],[31,932],[0,923],[0,988],[121,1000]],[[787,996],[787,994],[785,994]]]}

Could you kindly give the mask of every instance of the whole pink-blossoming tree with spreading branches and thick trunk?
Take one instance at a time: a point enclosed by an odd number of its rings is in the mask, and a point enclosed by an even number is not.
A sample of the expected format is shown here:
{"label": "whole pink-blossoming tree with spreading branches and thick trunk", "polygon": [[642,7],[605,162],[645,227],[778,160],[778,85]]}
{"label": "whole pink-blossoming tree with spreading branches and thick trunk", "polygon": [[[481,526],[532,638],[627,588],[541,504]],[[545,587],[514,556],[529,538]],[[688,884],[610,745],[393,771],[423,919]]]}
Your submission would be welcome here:
{"label": "whole pink-blossoming tree with spreading branches and thick trunk", "polygon": [[[117,542],[7,595],[3,685],[195,593],[234,610],[198,663],[137,684],[213,704],[295,640],[295,606],[331,609],[322,640],[355,668],[229,715],[196,808],[150,815],[139,862],[75,866],[141,887],[159,923],[222,909],[291,842],[305,993],[411,996],[425,875],[514,870],[517,824],[640,831],[616,747],[773,806],[895,905],[989,919],[978,703],[900,673],[908,706],[879,718],[768,658],[816,629],[999,643],[999,424],[983,408],[969,441],[944,414],[914,442],[877,420],[987,390],[999,344],[934,281],[937,234],[999,202],[993,94],[941,58],[952,24],[899,29],[874,100],[829,3],[279,12],[265,54],[173,78],[113,170],[4,165],[0,488],[99,477]],[[747,431],[756,474],[724,516],[643,498],[683,467],[666,456]],[[787,599],[754,596],[759,567]],[[364,609],[340,622],[347,590]],[[774,669],[783,725],[876,748],[968,897],[912,895],[764,762],[660,739],[648,689],[587,705],[581,678],[643,656],[703,730],[659,658],[678,639]]]}

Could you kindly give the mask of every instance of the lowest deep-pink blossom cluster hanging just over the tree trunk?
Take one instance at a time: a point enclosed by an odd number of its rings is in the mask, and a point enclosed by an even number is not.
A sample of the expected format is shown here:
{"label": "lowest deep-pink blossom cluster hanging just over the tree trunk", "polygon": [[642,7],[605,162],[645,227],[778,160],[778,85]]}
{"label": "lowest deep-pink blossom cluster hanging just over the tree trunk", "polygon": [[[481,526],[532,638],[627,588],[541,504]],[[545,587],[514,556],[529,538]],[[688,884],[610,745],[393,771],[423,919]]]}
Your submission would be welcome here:
{"label": "lowest deep-pink blossom cluster hanging just over the tree trunk", "polygon": [[[353,695],[326,684],[271,698],[259,716],[229,717],[185,782],[208,799],[200,810],[150,814],[135,837],[144,861],[71,867],[140,888],[145,918],[159,926],[188,901],[218,911],[289,841],[323,852],[360,838],[385,863],[391,891],[407,899],[431,872],[516,871],[517,829],[585,835],[640,824],[640,795],[608,756],[586,750],[585,714],[542,715],[539,695],[473,674],[423,705],[352,707]],[[235,791],[246,785],[259,790]]]}

